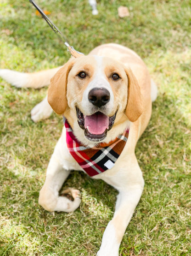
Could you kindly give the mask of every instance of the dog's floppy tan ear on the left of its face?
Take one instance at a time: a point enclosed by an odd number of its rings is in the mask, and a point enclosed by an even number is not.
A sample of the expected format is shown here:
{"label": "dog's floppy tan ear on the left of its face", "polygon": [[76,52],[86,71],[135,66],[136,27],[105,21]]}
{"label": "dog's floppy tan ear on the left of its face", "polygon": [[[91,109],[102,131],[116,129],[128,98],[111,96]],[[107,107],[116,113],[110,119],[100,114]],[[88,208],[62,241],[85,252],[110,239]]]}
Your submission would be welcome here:
{"label": "dog's floppy tan ear on the left of its face", "polygon": [[73,67],[74,61],[69,60],[54,77],[48,89],[48,102],[57,114],[63,114],[67,108],[67,76]]}

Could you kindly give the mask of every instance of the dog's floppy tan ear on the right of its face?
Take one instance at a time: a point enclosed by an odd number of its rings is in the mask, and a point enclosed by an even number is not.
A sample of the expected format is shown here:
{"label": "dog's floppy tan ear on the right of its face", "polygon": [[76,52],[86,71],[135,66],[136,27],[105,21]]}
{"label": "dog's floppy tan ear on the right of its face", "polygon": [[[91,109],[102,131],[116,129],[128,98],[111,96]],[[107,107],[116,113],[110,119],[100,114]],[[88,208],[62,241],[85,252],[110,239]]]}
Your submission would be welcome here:
{"label": "dog's floppy tan ear on the right of its face", "polygon": [[128,77],[128,96],[125,114],[129,121],[135,122],[143,112],[142,95],[140,86],[131,69],[125,69]]}

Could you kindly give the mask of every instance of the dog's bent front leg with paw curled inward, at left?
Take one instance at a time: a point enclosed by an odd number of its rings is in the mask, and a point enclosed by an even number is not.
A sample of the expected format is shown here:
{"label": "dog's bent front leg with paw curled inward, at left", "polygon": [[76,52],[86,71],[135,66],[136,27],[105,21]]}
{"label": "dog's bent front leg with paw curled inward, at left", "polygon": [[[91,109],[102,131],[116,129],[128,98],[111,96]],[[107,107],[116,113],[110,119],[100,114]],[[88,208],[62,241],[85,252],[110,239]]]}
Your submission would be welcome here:
{"label": "dog's bent front leg with paw curled inward, at left", "polygon": [[62,191],[61,195],[59,195],[59,191],[70,173],[70,171],[63,167],[64,161],[62,161],[61,156],[65,152],[62,152],[62,147],[63,142],[61,137],[56,144],[47,168],[45,184],[39,193],[39,204],[47,211],[63,211],[69,213],[79,207],[81,198],[79,190],[73,188]]}

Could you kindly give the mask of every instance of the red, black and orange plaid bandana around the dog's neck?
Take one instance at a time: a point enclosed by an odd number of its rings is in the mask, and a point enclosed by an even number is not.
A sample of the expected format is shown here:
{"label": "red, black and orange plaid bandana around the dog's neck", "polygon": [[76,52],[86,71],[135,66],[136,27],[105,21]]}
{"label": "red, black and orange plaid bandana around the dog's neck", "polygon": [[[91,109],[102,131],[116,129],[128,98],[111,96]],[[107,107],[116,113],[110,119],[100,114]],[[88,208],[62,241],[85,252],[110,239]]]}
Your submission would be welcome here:
{"label": "red, black and orange plaid bandana around the dog's neck", "polygon": [[103,173],[115,165],[115,162],[124,149],[129,135],[128,129],[111,143],[100,143],[99,148],[90,148],[84,147],[77,140],[65,118],[64,125],[66,127],[67,148],[70,154],[91,177]]}

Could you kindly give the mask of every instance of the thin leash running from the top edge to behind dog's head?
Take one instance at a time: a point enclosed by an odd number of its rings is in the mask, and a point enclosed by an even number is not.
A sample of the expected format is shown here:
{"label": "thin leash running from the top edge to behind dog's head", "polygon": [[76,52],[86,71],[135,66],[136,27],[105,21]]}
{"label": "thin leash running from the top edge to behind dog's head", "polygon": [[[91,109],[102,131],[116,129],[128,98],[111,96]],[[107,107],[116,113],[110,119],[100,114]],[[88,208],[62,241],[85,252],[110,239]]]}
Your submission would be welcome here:
{"label": "thin leash running from the top edge to behind dog's head", "polygon": [[33,0],[29,0],[29,2],[39,11],[39,13],[42,15],[42,18],[45,19],[45,21],[48,23],[48,25],[51,27],[51,29],[56,33],[56,35],[58,35],[61,38],[62,42],[64,42],[64,44],[66,45],[67,50],[70,52],[70,54],[73,57],[78,58],[78,57],[81,57],[82,55],[84,55],[83,53],[76,51],[72,46],[69,45],[69,43],[67,42],[67,38],[51,22],[51,20],[45,15],[45,13],[42,11],[42,9]]}

